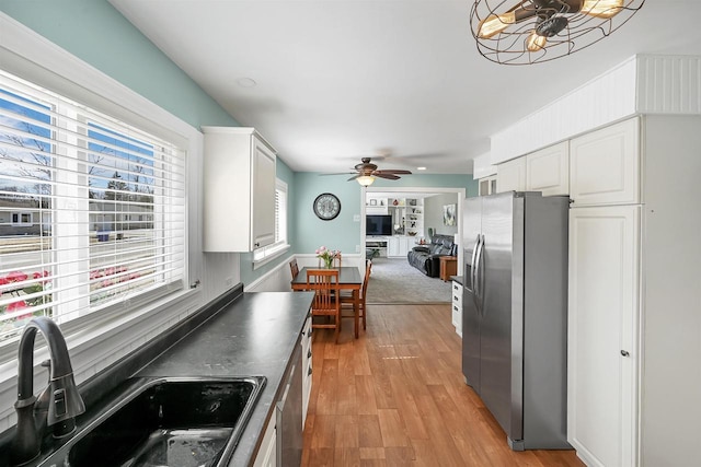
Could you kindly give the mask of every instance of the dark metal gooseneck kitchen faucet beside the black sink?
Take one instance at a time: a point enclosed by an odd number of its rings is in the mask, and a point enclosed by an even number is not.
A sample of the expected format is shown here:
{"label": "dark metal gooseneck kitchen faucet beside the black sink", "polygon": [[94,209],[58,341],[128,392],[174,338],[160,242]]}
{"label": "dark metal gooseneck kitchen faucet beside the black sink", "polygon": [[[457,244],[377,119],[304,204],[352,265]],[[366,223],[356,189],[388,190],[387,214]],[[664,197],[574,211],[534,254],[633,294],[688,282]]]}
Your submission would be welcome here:
{"label": "dark metal gooseneck kitchen faucet beside the black sink", "polygon": [[[48,386],[38,398],[34,396],[34,338],[37,330],[44,336],[50,357]],[[12,464],[19,466],[39,455],[47,427],[54,427],[54,437],[71,434],[76,430],[74,417],[85,411],[85,405],[76,387],[66,340],[53,319],[38,316],[24,327],[18,362],[18,401],[14,404],[18,425],[11,458]]]}

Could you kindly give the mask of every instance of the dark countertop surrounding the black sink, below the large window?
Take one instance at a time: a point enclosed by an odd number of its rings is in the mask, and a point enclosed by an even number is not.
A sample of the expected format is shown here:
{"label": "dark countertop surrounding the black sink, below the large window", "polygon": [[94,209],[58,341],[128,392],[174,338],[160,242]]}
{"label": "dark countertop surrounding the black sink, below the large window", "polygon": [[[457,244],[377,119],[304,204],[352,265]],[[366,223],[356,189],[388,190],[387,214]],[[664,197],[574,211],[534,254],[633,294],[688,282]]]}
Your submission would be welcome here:
{"label": "dark countertop surrounding the black sink, below the large window", "polygon": [[244,293],[136,376],[265,376],[267,383],[231,457],[254,460],[274,401],[298,342],[313,293]]}

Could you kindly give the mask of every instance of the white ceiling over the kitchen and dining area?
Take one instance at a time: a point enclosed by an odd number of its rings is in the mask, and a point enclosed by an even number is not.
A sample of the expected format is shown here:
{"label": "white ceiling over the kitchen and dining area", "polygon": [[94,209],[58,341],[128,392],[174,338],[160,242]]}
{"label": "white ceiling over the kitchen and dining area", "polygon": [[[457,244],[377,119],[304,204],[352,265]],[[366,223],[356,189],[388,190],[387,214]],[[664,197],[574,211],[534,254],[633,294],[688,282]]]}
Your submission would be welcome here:
{"label": "white ceiling over the kitchen and dining area", "polygon": [[647,0],[598,44],[522,67],[478,52],[469,0],[110,1],[298,172],[389,151],[380,168],[471,173],[491,135],[634,54],[701,56],[699,0]]}

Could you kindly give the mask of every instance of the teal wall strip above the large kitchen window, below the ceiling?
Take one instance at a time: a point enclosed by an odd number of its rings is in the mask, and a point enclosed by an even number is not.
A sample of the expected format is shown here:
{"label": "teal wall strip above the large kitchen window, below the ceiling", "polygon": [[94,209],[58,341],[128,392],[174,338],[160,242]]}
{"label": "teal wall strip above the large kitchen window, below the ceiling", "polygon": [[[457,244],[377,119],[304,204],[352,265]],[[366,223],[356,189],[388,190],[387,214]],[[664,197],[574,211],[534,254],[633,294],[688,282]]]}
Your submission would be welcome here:
{"label": "teal wall strip above the large kitchen window, below the ceiling", "polygon": [[195,128],[239,126],[106,0],[0,0],[0,11]]}

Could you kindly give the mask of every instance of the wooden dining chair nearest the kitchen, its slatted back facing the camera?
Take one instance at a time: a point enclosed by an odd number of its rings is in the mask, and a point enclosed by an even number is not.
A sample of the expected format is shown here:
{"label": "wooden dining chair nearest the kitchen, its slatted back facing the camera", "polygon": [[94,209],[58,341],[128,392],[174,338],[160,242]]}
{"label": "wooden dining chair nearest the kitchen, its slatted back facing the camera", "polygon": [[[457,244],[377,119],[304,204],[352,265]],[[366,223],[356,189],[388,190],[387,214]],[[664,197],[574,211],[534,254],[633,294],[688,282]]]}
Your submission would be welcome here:
{"label": "wooden dining chair nearest the kitchen, its slatted back facing the camera", "polygon": [[[338,343],[341,332],[341,289],[338,288],[337,269],[307,269],[307,290],[314,292],[314,300],[311,305],[311,327],[322,329],[334,329],[335,341]],[[322,316],[331,318],[330,322],[314,320],[314,317]]]}

